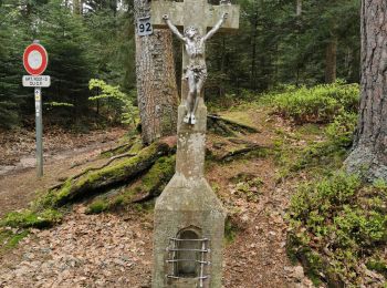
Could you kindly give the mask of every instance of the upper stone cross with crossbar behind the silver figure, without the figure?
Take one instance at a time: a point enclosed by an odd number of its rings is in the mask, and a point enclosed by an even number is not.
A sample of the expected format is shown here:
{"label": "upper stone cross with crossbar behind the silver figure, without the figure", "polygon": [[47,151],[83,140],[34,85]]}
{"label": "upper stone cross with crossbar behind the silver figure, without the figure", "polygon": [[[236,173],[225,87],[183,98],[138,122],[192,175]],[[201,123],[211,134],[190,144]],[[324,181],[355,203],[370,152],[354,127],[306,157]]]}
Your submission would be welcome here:
{"label": "upper stone cross with crossbar behind the silver figure, without the figure", "polygon": [[[184,2],[172,2],[157,0],[150,2],[150,21],[155,28],[168,28],[164,17],[168,16],[170,23],[179,29],[195,27],[200,35],[205,35],[207,30],[217,27],[219,20],[227,13],[227,19],[221,24],[220,31],[236,30],[239,28],[239,6],[232,6],[228,0],[220,0],[219,6],[212,6],[207,0],[184,0]],[[205,56],[205,55],[203,55]],[[189,64],[189,55],[186,49],[182,50],[182,71]],[[207,71],[206,71],[207,74]],[[187,76],[186,76],[187,79]],[[186,99],[188,92],[187,81],[181,82],[181,97]],[[202,101],[202,91],[200,91]],[[197,104],[196,104],[197,105]],[[187,120],[187,119],[185,119]],[[190,120],[185,121],[188,123]],[[192,116],[191,124],[195,124]]]}

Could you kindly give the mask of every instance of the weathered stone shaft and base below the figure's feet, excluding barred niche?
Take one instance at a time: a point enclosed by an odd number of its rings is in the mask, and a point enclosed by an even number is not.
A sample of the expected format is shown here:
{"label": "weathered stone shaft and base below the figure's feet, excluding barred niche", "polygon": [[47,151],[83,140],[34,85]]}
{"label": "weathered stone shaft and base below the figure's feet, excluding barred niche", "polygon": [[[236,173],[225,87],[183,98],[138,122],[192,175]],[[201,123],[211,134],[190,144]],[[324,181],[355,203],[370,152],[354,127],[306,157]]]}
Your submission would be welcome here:
{"label": "weathered stone shaft and base below the figure's feet, excluding barred niche", "polygon": [[226,212],[203,177],[207,109],[201,102],[196,125],[182,122],[185,107],[179,107],[176,174],[156,202],[154,232],[153,287],[199,287],[192,278],[168,279],[171,265],[166,263],[169,239],[191,227],[199,238],[209,238],[210,253],[203,275],[203,287],[221,287],[222,245]]}

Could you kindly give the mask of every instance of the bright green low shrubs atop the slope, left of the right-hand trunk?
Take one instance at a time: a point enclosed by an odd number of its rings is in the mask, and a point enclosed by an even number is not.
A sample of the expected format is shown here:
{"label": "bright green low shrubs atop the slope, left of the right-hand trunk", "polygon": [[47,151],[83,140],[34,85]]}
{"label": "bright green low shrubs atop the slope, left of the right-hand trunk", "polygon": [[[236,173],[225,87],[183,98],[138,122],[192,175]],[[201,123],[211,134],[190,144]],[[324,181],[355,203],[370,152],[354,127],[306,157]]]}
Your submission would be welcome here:
{"label": "bright green low shrubs atop the slope, left of the right-hand trunk", "polygon": [[343,113],[356,113],[358,84],[337,82],[314,88],[287,89],[272,96],[274,110],[296,124],[330,123]]}

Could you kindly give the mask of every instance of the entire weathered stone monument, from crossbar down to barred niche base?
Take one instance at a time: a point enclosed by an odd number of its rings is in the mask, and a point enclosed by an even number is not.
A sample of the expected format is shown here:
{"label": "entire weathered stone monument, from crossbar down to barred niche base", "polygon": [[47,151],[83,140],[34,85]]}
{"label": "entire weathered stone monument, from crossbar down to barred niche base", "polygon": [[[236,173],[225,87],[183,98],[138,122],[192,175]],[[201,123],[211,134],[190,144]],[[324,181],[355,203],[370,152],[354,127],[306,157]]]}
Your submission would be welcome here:
{"label": "entire weathered stone monument, from crossbar down to barred niche base", "polygon": [[[228,18],[226,13],[228,13]],[[165,14],[166,17],[164,17]],[[224,21],[226,18],[227,21]],[[212,27],[215,28],[210,30],[209,34],[218,31],[220,25],[223,30],[238,29],[239,7],[231,4],[210,6],[203,0],[153,1],[150,19],[154,27],[158,28],[167,28],[166,20],[174,33],[180,40],[186,41],[176,27],[195,27],[200,35],[203,35],[207,29]],[[157,199],[155,207],[154,288],[220,288],[222,286],[226,212],[203,175],[207,107],[203,103],[201,89],[203,83],[200,81],[206,80],[207,69],[205,47],[203,43],[201,44],[202,47],[199,47],[200,54],[190,54],[187,49],[182,50],[182,71],[186,74],[191,72],[188,78],[190,84],[188,85],[187,81],[181,81],[182,105],[178,109],[176,174]],[[185,45],[188,44],[185,43]],[[189,61],[192,58],[194,60]],[[195,65],[196,70],[194,70]],[[197,72],[198,70],[201,71],[201,74]],[[195,89],[192,89],[192,73],[194,75],[195,73],[200,74],[202,78],[194,83]],[[195,78],[200,76],[196,75]],[[188,93],[188,88],[190,93]],[[190,105],[191,90],[196,90],[194,110]],[[189,124],[185,123],[185,117]],[[195,119],[196,121],[194,121]],[[189,239],[190,237],[192,239]],[[172,247],[170,247],[171,243]]]}

